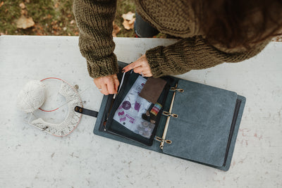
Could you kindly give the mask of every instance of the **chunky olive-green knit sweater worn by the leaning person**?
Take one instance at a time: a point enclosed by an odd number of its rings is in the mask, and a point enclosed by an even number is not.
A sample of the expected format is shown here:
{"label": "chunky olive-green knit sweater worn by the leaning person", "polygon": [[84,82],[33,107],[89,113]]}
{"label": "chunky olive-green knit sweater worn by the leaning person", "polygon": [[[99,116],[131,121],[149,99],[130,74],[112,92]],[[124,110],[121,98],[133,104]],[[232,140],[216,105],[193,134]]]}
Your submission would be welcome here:
{"label": "chunky olive-green knit sweater worn by the leaning person", "polygon": [[[258,54],[269,42],[262,42],[249,50],[211,45],[200,30],[200,18],[196,16],[199,13],[195,14],[189,1],[136,0],[135,4],[137,13],[157,30],[182,38],[176,44],[157,46],[146,52],[153,77],[179,75],[223,62],[240,62]],[[118,73],[111,35],[116,1],[74,0],[73,11],[80,29],[80,52],[87,60],[90,76]]]}

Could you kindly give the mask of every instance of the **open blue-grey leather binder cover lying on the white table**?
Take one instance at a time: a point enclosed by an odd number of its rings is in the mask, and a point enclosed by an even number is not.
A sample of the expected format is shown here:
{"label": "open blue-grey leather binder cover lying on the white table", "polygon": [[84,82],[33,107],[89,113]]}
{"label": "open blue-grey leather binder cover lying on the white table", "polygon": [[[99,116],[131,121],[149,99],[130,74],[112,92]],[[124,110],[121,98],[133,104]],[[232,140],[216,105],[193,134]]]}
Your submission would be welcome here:
{"label": "open blue-grey leather binder cover lying on the white table", "polygon": [[[119,62],[119,65],[126,64]],[[245,106],[245,97],[225,89],[171,78],[172,89],[166,96],[162,111],[171,110],[170,113],[174,116],[168,118],[161,115],[151,146],[105,130],[106,118],[109,117],[109,111],[113,106],[113,95],[104,96],[102,100],[94,134],[228,170]],[[183,89],[183,92],[180,89]]]}

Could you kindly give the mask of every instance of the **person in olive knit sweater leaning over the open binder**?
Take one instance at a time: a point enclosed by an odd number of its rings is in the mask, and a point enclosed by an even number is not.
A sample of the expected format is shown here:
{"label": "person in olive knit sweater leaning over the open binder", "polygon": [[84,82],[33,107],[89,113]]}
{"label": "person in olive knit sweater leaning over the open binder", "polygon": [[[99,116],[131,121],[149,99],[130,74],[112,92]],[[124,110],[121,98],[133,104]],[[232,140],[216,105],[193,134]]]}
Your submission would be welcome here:
{"label": "person in olive knit sweater leaning over the open binder", "polygon": [[[143,20],[153,33],[180,37],[176,44],[149,49],[123,69],[146,77],[244,61],[259,54],[281,32],[281,0],[135,0],[135,4],[135,26]],[[90,76],[102,94],[115,94],[118,65],[111,34],[116,0],[74,0],[73,12]],[[135,32],[142,33],[142,27]]]}

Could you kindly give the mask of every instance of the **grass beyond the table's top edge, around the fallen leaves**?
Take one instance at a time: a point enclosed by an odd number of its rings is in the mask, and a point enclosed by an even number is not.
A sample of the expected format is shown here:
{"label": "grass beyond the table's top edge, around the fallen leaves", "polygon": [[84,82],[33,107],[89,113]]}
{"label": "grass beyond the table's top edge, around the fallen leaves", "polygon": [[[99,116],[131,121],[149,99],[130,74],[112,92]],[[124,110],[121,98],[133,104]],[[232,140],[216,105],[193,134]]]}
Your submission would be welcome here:
{"label": "grass beyond the table's top edge, around the fallen leaves", "polygon": [[[16,27],[16,19],[20,18],[19,4],[22,2],[27,9],[27,16],[35,22],[34,27],[26,30]],[[72,7],[73,0],[6,0],[0,7],[0,32],[4,35],[78,35]],[[135,12],[134,0],[118,0],[115,19],[115,23],[121,27],[118,37],[134,37],[133,30],[125,30],[122,25],[121,15],[128,11]]]}

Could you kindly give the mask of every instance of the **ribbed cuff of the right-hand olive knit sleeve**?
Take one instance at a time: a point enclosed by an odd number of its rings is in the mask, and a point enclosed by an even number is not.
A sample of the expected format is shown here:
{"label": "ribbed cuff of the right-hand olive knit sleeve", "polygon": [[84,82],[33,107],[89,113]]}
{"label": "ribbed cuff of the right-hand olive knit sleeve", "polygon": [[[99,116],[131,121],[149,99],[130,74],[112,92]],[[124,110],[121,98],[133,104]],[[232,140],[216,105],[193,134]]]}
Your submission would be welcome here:
{"label": "ribbed cuff of the right-hand olive knit sleeve", "polygon": [[164,76],[164,68],[162,65],[166,64],[166,58],[163,53],[164,46],[157,46],[154,49],[146,51],[146,58],[152,71],[153,77]]}

